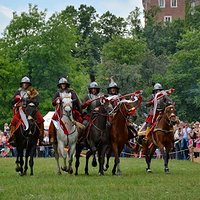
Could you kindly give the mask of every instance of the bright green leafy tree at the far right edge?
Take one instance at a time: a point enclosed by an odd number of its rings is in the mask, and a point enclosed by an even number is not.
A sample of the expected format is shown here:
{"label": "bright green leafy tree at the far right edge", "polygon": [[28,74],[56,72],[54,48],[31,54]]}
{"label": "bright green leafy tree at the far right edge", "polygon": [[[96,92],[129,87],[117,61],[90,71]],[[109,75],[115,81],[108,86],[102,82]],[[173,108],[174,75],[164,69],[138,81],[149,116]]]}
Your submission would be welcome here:
{"label": "bright green leafy tree at the far right edge", "polygon": [[[200,120],[200,31],[187,31],[171,57],[165,81],[175,87],[174,100],[183,120]],[[192,111],[192,112],[191,112]]]}

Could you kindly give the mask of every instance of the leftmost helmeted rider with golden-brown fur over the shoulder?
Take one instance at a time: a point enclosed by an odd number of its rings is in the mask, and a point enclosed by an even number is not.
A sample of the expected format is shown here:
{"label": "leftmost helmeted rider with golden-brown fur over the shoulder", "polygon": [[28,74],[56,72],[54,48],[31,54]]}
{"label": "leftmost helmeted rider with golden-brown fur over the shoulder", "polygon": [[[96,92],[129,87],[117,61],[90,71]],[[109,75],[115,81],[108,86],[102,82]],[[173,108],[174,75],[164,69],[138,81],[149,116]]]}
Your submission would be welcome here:
{"label": "leftmost helmeted rider with golden-brown fur over the shoulder", "polygon": [[[39,93],[35,88],[32,87],[29,77],[23,77],[20,82],[20,88],[15,92],[12,98],[14,115],[10,125],[10,144],[15,145],[16,138],[14,133],[16,131],[16,128],[19,127],[19,122],[21,121],[19,107],[22,107],[22,109],[24,110],[29,103],[33,103],[36,107],[38,107],[38,95]],[[38,110],[36,111],[36,123],[40,131],[39,141],[40,143],[42,143],[44,137],[44,119],[42,114]]]}

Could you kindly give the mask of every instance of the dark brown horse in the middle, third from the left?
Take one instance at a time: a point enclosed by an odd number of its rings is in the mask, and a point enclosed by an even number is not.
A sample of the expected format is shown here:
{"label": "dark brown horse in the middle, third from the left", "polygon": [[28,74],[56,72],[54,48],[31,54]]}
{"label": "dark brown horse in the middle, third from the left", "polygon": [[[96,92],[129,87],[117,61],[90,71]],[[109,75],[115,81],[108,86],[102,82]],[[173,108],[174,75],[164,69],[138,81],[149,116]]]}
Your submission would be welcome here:
{"label": "dark brown horse in the middle, third from the left", "polygon": [[80,153],[84,146],[89,148],[89,151],[86,153],[85,174],[89,175],[88,162],[91,155],[93,155],[92,166],[97,166],[96,152],[98,152],[99,175],[104,175],[104,157],[106,149],[110,145],[109,133],[107,130],[108,112],[104,103],[102,102],[99,107],[94,109],[91,114],[91,119],[85,129],[84,137],[77,143],[76,175],[78,175]]}

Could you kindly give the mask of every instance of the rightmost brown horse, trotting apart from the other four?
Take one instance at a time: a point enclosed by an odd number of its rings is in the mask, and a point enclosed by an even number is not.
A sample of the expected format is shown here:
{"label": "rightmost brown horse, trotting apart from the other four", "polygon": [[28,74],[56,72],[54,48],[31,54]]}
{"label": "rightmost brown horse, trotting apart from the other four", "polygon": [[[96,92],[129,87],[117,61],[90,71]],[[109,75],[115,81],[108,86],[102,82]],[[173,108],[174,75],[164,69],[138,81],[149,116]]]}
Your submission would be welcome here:
{"label": "rightmost brown horse, trotting apart from the other four", "polygon": [[169,152],[173,147],[174,131],[173,126],[176,123],[176,109],[174,105],[165,108],[152,130],[151,137],[143,142],[143,150],[147,163],[147,172],[151,172],[151,158],[158,147],[164,159],[164,171],[169,173],[168,161]]}

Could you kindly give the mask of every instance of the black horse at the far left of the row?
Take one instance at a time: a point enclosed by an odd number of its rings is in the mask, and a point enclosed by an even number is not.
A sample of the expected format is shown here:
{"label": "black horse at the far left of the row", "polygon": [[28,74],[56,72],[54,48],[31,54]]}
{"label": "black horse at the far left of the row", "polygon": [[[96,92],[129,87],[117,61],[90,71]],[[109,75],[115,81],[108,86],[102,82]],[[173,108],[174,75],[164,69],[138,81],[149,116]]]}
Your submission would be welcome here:
{"label": "black horse at the far left of the row", "polygon": [[[33,175],[33,158],[35,156],[37,142],[39,139],[39,127],[35,121],[36,106],[33,103],[30,103],[25,108],[25,112],[20,107],[19,113],[22,121],[20,125],[15,130],[16,137],[16,172],[19,172],[21,176],[26,175],[28,170],[28,157],[30,156],[29,166],[30,166],[30,175]],[[25,150],[25,165],[24,165],[24,150]],[[24,166],[24,168],[23,168]]]}

